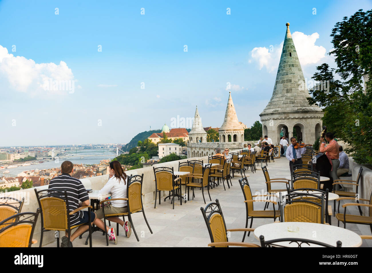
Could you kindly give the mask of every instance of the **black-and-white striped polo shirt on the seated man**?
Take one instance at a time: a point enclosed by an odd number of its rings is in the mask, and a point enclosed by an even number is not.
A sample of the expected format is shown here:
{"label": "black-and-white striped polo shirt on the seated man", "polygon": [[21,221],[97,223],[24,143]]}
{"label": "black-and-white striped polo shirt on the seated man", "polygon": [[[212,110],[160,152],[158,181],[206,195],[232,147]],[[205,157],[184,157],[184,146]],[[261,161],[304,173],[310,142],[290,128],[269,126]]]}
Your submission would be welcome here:
{"label": "black-and-white striped polo shirt on the seated man", "polygon": [[[49,189],[57,189],[59,191],[67,191],[68,209],[69,212],[77,209],[80,202],[89,200],[89,195],[81,181],[73,178],[68,173],[62,173],[51,179]],[[70,225],[80,224],[80,218],[83,218],[83,211],[78,211],[70,215]]]}

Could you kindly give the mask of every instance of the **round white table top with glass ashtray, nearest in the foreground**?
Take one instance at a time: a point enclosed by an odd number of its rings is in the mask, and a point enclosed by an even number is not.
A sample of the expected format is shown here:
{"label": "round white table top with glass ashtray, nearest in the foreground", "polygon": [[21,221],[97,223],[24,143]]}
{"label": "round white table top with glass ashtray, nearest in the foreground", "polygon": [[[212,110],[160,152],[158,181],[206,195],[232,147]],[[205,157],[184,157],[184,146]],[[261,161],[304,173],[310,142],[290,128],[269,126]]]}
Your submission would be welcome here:
{"label": "round white table top with glass ashtray, nearest in the foreground", "polygon": [[[289,226],[299,227],[298,232],[288,231]],[[260,235],[263,235],[265,241],[280,239],[280,238],[301,238],[319,241],[331,246],[336,246],[337,241],[341,241],[342,247],[359,247],[362,245],[362,239],[358,234],[345,228],[336,227],[333,225],[307,223],[307,222],[279,222],[262,225],[254,230],[254,237],[260,240]],[[297,247],[296,243],[289,242],[276,243],[280,246]],[[302,244],[301,247],[320,247],[318,245],[308,246]]]}

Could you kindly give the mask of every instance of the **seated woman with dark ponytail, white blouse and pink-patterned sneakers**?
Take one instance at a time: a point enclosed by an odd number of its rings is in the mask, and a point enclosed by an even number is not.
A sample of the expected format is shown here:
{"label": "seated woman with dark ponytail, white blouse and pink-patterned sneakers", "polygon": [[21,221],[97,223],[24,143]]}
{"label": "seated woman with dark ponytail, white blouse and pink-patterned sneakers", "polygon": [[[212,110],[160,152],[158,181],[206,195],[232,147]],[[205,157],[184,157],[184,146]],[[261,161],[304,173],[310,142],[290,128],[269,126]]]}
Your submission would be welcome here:
{"label": "seated woman with dark ponytail, white blouse and pink-patterned sneakers", "polygon": [[[106,185],[99,191],[100,194],[106,195],[111,192],[111,199],[115,198],[127,198],[126,197],[126,190],[127,190],[127,183],[126,183],[126,174],[123,172],[119,161],[115,160],[110,162],[109,168],[109,181],[107,181]],[[126,200],[114,200],[111,201],[111,204],[105,206],[105,214],[116,214],[116,213],[124,213],[128,212],[128,205]],[[103,221],[100,220],[103,218],[103,211],[102,208],[95,211],[97,218],[96,221],[100,221],[99,227],[103,225]],[[124,227],[126,237],[131,236],[131,222],[126,221],[124,222],[119,217],[108,217],[106,220],[111,222],[119,223],[122,227]],[[96,223],[94,223],[96,224]],[[109,235],[110,241],[114,241],[116,244],[116,235],[115,235],[115,228],[106,228],[107,235]]]}

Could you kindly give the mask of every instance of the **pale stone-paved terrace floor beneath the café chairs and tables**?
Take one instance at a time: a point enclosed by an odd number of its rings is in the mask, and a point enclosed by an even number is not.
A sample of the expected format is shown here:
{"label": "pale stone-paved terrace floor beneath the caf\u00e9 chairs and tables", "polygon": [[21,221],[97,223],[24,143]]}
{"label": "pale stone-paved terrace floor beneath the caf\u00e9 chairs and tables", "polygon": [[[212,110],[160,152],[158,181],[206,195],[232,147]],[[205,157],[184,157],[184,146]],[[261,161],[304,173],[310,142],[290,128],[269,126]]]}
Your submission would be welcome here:
{"label": "pale stone-paved terrace floor beneath the caf\u00e9 chairs and tables", "polygon": [[[275,162],[268,163],[267,170],[271,178],[283,178],[290,175],[288,160],[285,158],[275,159]],[[265,179],[260,166],[257,167],[256,173],[251,173],[250,170],[247,170],[246,175],[249,175],[247,178],[253,194],[254,191],[261,192],[266,189]],[[238,182],[240,178],[240,174],[235,173],[235,178],[231,179],[233,186],[230,189],[226,188],[226,191],[224,191],[222,185],[210,190],[212,201],[218,199],[221,204],[228,229],[243,228],[246,223],[246,208],[243,202],[243,193]],[[208,199],[206,191],[205,194],[206,199]],[[192,196],[191,193],[190,195]],[[137,242],[133,232],[130,238],[126,238],[124,229],[119,225],[118,244],[115,246],[113,242],[109,241],[109,247],[206,247],[211,240],[200,211],[200,207],[205,207],[202,193],[199,189],[196,189],[193,201],[191,196],[190,201],[187,201],[186,204],[183,203],[182,206],[176,199],[174,209],[172,209],[169,199],[166,202],[163,201],[164,197],[160,205],[157,202],[157,208],[155,209],[154,202],[144,204],[145,214],[153,234],[148,230],[142,213],[135,213],[132,214],[132,219],[140,241]],[[208,200],[207,204],[209,202]],[[333,202],[331,202],[331,205],[333,206]],[[255,209],[263,209],[264,203],[257,202],[254,206]],[[272,208],[270,207],[270,209]],[[357,208],[352,208],[349,211],[352,214],[358,214]],[[272,222],[273,220],[270,219],[254,219],[252,228]],[[113,224],[113,227],[116,228],[116,223]],[[335,217],[332,217],[332,225],[337,226]],[[342,223],[340,225],[342,227]],[[360,235],[371,235],[368,225],[346,224],[346,227]],[[74,240],[73,246],[89,247],[85,246],[85,238],[85,234],[83,239],[77,238]],[[92,238],[93,247],[106,247],[106,239],[102,232],[93,233]],[[242,238],[243,232],[232,232],[229,241],[241,241]],[[252,233],[244,241],[259,244]],[[371,246],[372,242],[363,240],[362,247]],[[45,247],[56,247],[56,242],[49,243]]]}

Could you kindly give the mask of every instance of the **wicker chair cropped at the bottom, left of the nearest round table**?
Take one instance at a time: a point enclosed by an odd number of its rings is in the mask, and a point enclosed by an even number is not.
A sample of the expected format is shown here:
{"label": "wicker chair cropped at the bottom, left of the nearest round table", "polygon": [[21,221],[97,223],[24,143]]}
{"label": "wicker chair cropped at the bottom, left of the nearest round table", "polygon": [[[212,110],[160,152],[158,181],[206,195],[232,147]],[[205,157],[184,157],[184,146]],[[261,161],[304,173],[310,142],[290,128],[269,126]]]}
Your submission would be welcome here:
{"label": "wicker chair cropped at the bottom, left of the nearest round table", "polygon": [[203,218],[208,229],[211,243],[209,247],[229,247],[229,246],[241,246],[241,247],[259,247],[256,244],[243,243],[243,242],[229,242],[227,232],[234,231],[254,231],[251,228],[236,228],[232,230],[226,229],[224,215],[222,214],[221,206],[219,205],[218,199],[216,202],[208,204],[205,208],[201,207]]}

